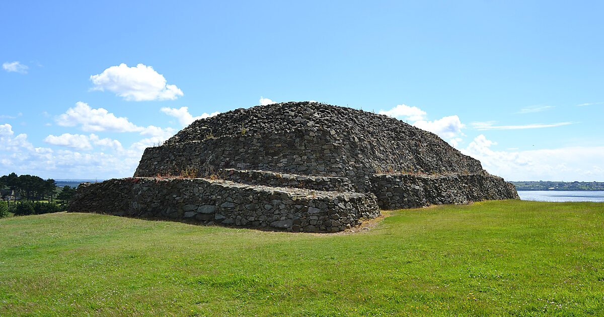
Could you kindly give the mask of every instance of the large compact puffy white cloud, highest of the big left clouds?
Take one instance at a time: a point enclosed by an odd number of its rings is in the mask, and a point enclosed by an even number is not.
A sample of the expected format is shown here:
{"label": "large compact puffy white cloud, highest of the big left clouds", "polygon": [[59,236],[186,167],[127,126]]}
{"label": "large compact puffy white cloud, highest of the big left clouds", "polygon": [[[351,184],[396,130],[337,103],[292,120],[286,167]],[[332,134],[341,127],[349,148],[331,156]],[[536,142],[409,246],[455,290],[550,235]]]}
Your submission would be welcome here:
{"label": "large compact puffy white cloud, highest of the big left clouds", "polygon": [[125,100],[175,100],[183,95],[176,85],[167,85],[164,76],[153,67],[143,64],[111,66],[101,74],[92,75],[90,80],[93,90],[115,92]]}

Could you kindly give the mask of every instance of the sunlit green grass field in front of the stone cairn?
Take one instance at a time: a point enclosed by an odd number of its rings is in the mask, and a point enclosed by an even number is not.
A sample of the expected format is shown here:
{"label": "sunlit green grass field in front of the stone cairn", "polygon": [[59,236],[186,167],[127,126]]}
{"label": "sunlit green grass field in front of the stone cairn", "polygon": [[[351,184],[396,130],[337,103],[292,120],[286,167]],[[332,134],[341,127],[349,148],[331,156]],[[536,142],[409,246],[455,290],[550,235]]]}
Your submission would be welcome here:
{"label": "sunlit green grass field in front of the stone cairn", "polygon": [[0,219],[0,315],[604,315],[604,204],[400,210],[350,234]]}

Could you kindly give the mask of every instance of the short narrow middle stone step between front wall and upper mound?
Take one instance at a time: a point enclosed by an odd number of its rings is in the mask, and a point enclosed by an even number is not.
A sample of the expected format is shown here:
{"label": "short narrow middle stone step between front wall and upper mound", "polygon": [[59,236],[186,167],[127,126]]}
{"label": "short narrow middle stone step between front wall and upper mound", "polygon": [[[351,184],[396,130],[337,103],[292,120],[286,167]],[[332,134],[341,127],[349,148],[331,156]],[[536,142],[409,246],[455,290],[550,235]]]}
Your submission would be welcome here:
{"label": "short narrow middle stone step between front wall and upper mound", "polygon": [[237,170],[234,168],[218,170],[217,177],[250,185],[305,188],[320,191],[353,191],[350,180],[344,177],[306,176],[274,171]]}

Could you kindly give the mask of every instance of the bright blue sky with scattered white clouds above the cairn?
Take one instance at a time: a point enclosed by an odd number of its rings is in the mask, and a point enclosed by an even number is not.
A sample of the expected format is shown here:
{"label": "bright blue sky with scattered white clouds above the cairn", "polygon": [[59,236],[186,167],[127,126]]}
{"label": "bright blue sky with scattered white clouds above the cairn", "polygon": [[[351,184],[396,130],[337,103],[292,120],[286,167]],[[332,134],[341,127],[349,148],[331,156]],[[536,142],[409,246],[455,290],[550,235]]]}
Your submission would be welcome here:
{"label": "bright blue sky with scattered white clouds above the cairn", "polygon": [[431,130],[510,181],[604,181],[601,1],[0,11],[0,175],[132,176],[144,147],[193,118],[316,100]]}

